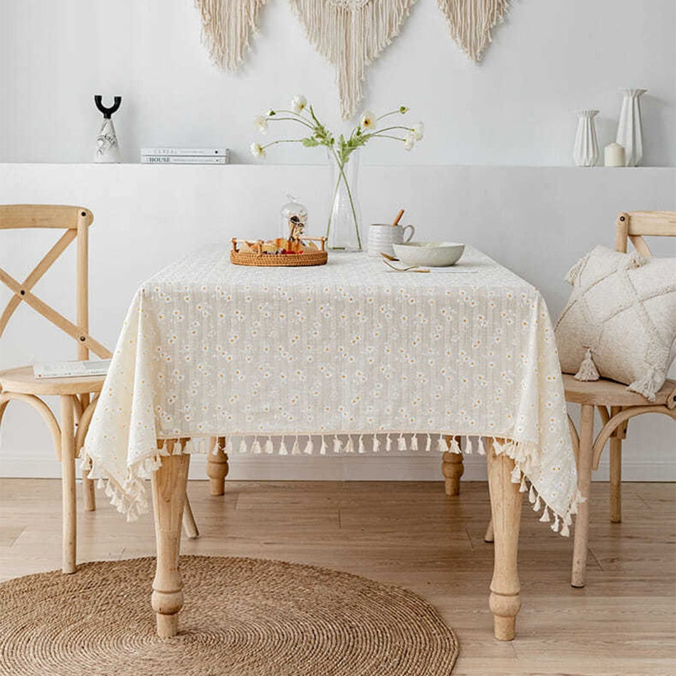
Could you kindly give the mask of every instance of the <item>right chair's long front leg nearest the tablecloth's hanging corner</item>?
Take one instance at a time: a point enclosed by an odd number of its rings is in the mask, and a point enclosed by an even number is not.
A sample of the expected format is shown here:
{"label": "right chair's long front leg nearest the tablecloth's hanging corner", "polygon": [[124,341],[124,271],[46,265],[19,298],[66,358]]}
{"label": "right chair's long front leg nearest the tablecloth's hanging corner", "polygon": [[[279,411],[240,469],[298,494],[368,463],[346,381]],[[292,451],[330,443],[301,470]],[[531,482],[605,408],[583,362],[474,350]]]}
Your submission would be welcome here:
{"label": "right chair's long front leg nearest the tablecloth's hanging corner", "polygon": [[571,585],[584,586],[587,567],[587,544],[589,539],[589,500],[591,493],[591,460],[593,455],[594,407],[582,405],[580,415],[580,450],[577,463],[577,486],[586,498],[578,506],[575,520],[575,539],[573,546],[573,571]]}

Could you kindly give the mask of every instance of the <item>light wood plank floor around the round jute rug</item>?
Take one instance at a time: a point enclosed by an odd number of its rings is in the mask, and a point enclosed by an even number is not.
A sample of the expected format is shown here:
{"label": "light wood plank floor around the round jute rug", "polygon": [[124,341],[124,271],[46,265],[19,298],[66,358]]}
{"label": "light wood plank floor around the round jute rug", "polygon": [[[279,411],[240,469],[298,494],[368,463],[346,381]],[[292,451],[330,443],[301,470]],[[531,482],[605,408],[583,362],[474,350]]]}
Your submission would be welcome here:
{"label": "light wood plank floor around the round jute rug", "polygon": [[[483,482],[463,482],[459,498],[445,497],[442,482],[228,482],[224,497],[190,482],[201,537],[184,539],[183,551],[327,566],[416,591],[458,634],[455,676],[672,676],[676,487],[625,484],[622,524],[608,522],[607,491],[593,485],[584,589],[569,584],[571,539],[524,507],[512,643],[492,638]],[[149,516],[127,524],[101,491],[97,500],[97,512],[78,514],[80,561],[154,554]],[[59,566],[60,482],[0,480],[1,579]]]}

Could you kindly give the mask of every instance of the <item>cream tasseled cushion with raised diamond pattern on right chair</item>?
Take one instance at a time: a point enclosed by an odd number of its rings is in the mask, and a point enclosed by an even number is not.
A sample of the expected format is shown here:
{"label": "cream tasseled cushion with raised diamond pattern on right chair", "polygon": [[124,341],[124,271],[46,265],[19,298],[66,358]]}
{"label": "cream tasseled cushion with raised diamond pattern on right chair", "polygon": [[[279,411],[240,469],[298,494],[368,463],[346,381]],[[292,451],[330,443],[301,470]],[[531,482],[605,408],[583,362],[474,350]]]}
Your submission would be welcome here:
{"label": "cream tasseled cushion with raised diamond pattern on right chair", "polygon": [[596,366],[652,401],[676,356],[676,258],[597,246],[566,281],[573,292],[556,322],[561,370],[592,380]]}

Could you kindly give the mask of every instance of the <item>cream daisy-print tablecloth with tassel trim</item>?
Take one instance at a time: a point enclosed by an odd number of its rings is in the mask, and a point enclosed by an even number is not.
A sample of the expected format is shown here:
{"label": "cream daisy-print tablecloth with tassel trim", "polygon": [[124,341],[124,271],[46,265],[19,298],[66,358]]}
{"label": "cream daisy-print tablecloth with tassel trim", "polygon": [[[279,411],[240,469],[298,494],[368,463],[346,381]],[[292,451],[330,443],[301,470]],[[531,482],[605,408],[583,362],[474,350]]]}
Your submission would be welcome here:
{"label": "cream daisy-print tablecloth with tassel trim", "polygon": [[359,253],[247,268],[212,247],[139,288],[83,457],[133,519],[169,453],[158,439],[189,439],[174,453],[218,436],[245,453],[385,455],[448,450],[445,435],[467,437],[465,453],[500,440],[512,480],[568,534],[575,462],[537,289],[472,248],[419,274]]}

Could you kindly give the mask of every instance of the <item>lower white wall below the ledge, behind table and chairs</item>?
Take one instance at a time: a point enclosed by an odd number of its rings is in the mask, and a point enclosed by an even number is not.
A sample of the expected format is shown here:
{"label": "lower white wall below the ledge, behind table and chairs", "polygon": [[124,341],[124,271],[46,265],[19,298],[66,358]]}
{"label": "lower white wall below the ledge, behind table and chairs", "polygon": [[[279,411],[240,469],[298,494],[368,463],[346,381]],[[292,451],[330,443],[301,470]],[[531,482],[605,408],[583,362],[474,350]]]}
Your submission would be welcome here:
{"label": "lower white wall below the ledge, behind table and chairs", "polygon": [[[287,191],[303,196],[310,230],[321,232],[329,196],[327,167],[155,167],[147,165],[0,164],[0,203],[83,204],[95,214],[90,236],[90,327],[112,347],[142,280],[186,250],[228,247],[232,236],[278,228]],[[676,210],[676,169],[363,167],[364,223],[406,207],[420,238],[453,238],[485,250],[537,285],[553,318],[569,295],[566,270],[597,243],[614,243],[620,210]],[[0,267],[23,279],[55,233],[2,233]],[[36,292],[64,314],[75,306],[73,253]],[[655,245],[676,255],[674,243]],[[9,292],[0,290],[0,307]],[[75,357],[72,339],[20,307],[1,339],[0,368],[35,359]],[[676,480],[675,428],[665,416],[632,421],[625,443],[627,479]],[[239,458],[234,477],[439,479],[439,458]],[[195,475],[204,477],[196,458]],[[0,474],[58,476],[51,440],[36,413],[8,408]],[[465,478],[484,476],[468,458]],[[607,476],[602,469],[597,477]]]}

